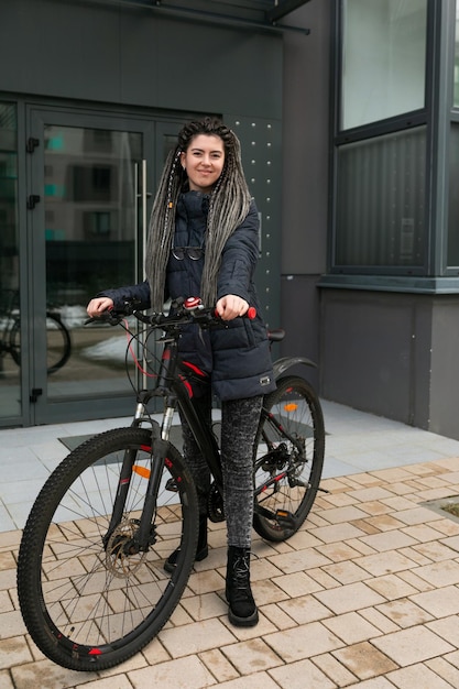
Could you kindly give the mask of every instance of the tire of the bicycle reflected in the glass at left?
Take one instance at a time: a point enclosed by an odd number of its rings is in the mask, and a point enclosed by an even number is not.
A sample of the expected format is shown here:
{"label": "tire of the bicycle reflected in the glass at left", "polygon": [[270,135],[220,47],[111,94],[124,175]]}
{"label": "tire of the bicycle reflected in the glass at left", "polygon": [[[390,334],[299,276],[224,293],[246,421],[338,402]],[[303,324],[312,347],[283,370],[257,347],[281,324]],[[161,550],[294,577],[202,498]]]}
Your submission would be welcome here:
{"label": "tire of the bicycle reflected in the glass at left", "polygon": [[[18,365],[21,365],[21,321],[17,318],[10,330],[9,351]],[[65,365],[72,354],[70,333],[61,315],[46,311],[46,371],[48,375]]]}

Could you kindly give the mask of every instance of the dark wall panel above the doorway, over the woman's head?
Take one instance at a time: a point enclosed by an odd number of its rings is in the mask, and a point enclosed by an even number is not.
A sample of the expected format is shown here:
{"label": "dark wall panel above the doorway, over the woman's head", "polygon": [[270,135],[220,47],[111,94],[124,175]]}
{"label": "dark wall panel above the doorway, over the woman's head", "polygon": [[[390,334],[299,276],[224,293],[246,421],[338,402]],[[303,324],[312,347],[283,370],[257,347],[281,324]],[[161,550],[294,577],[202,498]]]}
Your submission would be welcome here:
{"label": "dark wall panel above the doorway, over the woman's head", "polygon": [[226,28],[121,20],[122,102],[282,118],[282,39]]}

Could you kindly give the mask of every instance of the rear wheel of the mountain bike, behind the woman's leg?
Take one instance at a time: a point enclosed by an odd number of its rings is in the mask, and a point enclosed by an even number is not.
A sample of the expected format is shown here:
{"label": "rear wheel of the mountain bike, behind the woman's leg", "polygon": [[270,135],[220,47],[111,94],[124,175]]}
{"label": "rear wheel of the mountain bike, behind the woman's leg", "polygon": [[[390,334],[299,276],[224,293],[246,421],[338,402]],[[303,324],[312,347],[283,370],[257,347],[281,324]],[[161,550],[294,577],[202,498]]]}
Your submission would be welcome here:
{"label": "rear wheel of the mountain bike, behind the woman's leg", "polygon": [[298,531],[314,504],[324,466],[324,415],[312,385],[294,375],[277,381],[263,408],[267,414],[254,444],[253,528],[266,540],[281,542]]}

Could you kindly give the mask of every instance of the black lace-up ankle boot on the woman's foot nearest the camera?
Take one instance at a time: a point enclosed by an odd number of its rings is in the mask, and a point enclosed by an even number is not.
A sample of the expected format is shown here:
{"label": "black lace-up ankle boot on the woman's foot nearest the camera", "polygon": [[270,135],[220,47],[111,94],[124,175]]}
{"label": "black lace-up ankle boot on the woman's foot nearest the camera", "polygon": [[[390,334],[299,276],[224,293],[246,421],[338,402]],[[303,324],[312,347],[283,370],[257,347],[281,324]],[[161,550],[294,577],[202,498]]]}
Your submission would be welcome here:
{"label": "black lace-up ankle boot on the woman's foot nearest the camera", "polygon": [[250,549],[228,548],[227,567],[228,617],[234,626],[254,626],[259,611],[250,588]]}

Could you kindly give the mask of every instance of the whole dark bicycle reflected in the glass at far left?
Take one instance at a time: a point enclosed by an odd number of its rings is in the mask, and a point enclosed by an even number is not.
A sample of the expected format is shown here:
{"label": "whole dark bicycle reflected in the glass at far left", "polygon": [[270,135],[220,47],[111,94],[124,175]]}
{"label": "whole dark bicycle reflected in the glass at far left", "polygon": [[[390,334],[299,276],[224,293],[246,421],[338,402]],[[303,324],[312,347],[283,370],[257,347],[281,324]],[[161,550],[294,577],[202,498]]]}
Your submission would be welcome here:
{"label": "whole dark bicycle reflected in the glass at far left", "polygon": [[[0,335],[0,357],[10,354],[17,365],[21,365],[21,318],[19,292],[3,291],[2,331]],[[65,327],[61,313],[51,306],[46,308],[46,370],[55,373],[67,363],[72,353],[70,333]]]}

